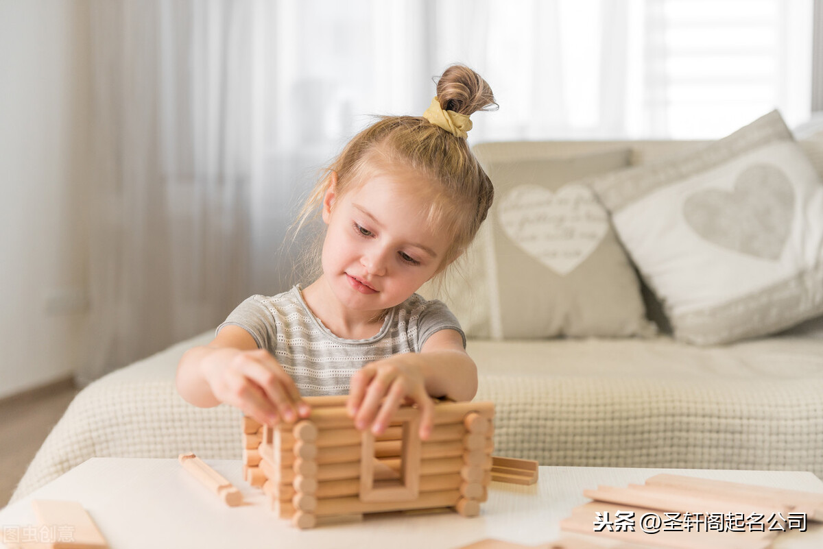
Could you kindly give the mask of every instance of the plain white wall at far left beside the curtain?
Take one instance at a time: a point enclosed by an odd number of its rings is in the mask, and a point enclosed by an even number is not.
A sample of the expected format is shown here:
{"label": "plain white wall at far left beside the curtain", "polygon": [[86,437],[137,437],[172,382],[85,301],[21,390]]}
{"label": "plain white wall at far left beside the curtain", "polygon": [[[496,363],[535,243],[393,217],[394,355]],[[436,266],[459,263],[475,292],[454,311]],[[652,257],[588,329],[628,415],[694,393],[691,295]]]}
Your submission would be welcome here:
{"label": "plain white wall at far left beside the curtain", "polygon": [[87,0],[0,0],[0,397],[83,359],[90,53]]}

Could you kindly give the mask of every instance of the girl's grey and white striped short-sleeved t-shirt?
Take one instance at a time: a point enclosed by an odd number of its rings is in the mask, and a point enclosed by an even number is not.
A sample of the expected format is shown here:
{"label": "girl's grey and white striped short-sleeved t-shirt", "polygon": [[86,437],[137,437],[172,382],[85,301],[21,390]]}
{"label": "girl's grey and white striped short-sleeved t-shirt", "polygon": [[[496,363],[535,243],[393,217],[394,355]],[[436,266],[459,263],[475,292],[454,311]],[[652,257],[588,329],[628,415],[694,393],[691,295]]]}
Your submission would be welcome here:
{"label": "girl's grey and white striped short-sleeved t-shirt", "polygon": [[300,394],[348,394],[349,378],[366,363],[398,353],[419,353],[439,330],[460,329],[443,302],[418,294],[388,311],[380,331],[369,339],[343,339],[332,334],[309,310],[300,286],[266,297],[254,295],[240,303],[226,322],[236,325],[272,353],[295,381]]}

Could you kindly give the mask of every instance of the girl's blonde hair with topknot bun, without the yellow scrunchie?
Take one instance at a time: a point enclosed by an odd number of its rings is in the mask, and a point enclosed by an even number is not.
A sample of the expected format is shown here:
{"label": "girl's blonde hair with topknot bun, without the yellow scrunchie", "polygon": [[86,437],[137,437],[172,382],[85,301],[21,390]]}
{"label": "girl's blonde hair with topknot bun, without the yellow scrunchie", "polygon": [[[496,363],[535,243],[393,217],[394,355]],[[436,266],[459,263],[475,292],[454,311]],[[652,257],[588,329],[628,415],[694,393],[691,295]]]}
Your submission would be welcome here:
{"label": "girl's blonde hair with topknot bun, without the yellow scrunchie", "polygon": [[[444,110],[466,115],[497,106],[491,87],[463,65],[453,65],[440,76],[437,98]],[[442,224],[451,238],[438,271],[444,270],[474,239],[495,192],[466,140],[422,117],[379,117],[354,136],[305,200],[293,227],[295,234],[318,215],[332,172],[337,173],[339,199],[364,181],[365,175],[397,169],[420,173],[432,186],[435,200],[429,220]],[[307,260],[314,270],[319,267],[318,257],[315,250]]]}

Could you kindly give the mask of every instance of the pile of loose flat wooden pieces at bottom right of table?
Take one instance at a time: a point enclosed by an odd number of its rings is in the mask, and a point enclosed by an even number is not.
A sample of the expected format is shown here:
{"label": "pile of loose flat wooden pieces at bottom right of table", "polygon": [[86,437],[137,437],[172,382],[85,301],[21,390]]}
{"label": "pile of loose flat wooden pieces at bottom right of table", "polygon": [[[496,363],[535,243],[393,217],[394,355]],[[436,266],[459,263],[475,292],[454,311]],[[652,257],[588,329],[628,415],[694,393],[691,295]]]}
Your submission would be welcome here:
{"label": "pile of loose flat wooden pieces at bottom right of table", "polygon": [[672,549],[765,549],[823,511],[823,494],[672,474],[584,496],[561,530]]}

